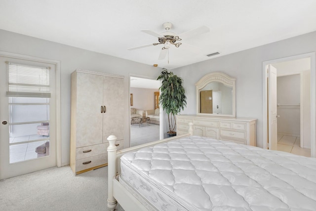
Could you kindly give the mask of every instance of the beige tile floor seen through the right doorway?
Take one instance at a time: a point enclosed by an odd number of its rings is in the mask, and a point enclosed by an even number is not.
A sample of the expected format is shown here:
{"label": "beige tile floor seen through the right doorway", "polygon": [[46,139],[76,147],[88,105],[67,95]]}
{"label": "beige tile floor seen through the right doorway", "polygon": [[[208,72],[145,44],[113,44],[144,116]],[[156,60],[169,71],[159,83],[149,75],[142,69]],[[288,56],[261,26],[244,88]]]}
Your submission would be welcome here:
{"label": "beige tile floor seen through the right doorway", "polygon": [[300,147],[300,137],[277,135],[277,150],[295,155],[311,157],[311,149]]}

